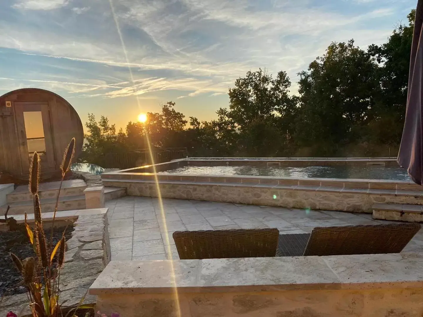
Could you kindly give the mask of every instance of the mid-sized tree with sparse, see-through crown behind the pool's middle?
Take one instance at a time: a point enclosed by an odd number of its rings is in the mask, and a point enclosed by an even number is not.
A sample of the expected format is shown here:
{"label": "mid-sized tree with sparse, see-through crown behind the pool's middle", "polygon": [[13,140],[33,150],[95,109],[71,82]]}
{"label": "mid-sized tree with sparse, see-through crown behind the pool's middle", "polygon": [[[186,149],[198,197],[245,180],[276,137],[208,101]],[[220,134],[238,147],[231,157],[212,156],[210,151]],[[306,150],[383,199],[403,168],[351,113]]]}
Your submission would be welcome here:
{"label": "mid-sized tree with sparse, see-through crown behind the pool's middle", "polygon": [[285,113],[293,112],[294,99],[288,95],[290,86],[286,72],[280,71],[273,78],[261,68],[236,79],[235,87],[228,93],[229,110],[220,110],[220,120],[221,123],[231,122],[239,131],[241,155],[270,156],[280,150],[280,142],[275,139],[286,135],[283,131],[286,127],[283,127],[283,120],[276,118],[284,119]]}

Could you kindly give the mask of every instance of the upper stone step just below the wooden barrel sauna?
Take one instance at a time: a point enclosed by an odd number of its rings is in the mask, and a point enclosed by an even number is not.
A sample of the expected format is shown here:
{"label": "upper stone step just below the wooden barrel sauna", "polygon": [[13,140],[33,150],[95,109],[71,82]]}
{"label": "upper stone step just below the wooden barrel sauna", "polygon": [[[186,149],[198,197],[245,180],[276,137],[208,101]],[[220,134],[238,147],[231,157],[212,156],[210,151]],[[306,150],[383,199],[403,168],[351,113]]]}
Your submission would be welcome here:
{"label": "upper stone step just below the wooden barrel sauna", "polygon": [[[59,186],[60,181],[41,183],[38,186],[38,195],[40,199],[55,199],[57,197]],[[87,185],[83,180],[64,180],[62,188],[60,189],[60,197],[83,195],[85,188],[87,188]],[[32,194],[30,193],[27,185],[18,186],[13,192],[7,195],[7,202],[9,204],[13,202],[24,202],[27,200],[32,201]]]}

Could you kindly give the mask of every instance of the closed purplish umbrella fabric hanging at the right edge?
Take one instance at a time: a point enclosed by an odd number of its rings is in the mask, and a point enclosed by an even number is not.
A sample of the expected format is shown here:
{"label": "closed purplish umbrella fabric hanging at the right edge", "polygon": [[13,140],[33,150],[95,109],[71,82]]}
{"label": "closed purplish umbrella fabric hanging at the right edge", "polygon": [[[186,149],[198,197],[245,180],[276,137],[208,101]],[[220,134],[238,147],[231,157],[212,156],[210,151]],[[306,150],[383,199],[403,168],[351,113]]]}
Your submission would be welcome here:
{"label": "closed purplish umbrella fabric hanging at the right edge", "polygon": [[411,46],[407,110],[398,153],[398,164],[410,178],[422,185],[423,170],[423,0],[418,0]]}

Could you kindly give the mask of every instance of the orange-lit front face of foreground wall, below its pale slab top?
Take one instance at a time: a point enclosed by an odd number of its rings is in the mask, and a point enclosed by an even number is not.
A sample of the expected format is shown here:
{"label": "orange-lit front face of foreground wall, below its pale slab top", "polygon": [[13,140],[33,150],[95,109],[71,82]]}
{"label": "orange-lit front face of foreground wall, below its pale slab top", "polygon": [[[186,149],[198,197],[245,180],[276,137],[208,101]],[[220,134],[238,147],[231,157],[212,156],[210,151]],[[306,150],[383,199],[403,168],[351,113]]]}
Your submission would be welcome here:
{"label": "orange-lit front face of foreground wall, below its pale slab top", "polygon": [[[102,312],[125,317],[420,317],[423,289],[196,292],[101,296]],[[178,313],[178,308],[180,313]]]}

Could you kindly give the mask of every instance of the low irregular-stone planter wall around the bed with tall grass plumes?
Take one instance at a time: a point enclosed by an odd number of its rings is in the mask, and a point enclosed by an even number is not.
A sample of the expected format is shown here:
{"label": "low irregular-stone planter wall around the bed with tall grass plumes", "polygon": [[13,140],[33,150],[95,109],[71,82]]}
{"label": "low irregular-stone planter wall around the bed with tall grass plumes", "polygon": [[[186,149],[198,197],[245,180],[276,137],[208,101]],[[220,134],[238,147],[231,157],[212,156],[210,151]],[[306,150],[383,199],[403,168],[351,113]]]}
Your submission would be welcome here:
{"label": "low irregular-stone planter wall around the bed with tall grass plumes", "polygon": [[[76,307],[85,296],[84,304],[96,303],[96,296],[87,293],[88,288],[110,262],[110,242],[107,208],[58,211],[58,223],[74,221],[72,238],[67,244],[65,264],[60,274],[60,302],[63,308]],[[23,215],[14,218],[22,222]],[[52,219],[52,213],[43,213],[44,223]],[[33,221],[33,215],[28,215]],[[55,226],[56,227],[56,226]],[[31,316],[27,295],[5,296],[0,301],[0,316],[13,311],[18,316]]]}

